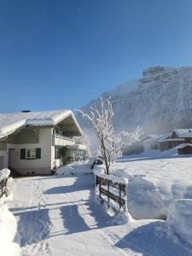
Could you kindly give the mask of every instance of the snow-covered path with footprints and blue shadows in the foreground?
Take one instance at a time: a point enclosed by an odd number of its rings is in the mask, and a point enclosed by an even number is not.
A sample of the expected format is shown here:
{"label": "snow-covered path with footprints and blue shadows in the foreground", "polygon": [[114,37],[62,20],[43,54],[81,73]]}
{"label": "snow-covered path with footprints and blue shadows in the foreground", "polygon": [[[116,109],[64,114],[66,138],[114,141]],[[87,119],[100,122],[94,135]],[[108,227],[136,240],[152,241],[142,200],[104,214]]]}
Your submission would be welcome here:
{"label": "snow-covered path with footprints and blue shadows in the foreground", "polygon": [[163,221],[114,225],[96,205],[93,175],[17,179],[9,208],[21,255],[189,255],[162,236]]}

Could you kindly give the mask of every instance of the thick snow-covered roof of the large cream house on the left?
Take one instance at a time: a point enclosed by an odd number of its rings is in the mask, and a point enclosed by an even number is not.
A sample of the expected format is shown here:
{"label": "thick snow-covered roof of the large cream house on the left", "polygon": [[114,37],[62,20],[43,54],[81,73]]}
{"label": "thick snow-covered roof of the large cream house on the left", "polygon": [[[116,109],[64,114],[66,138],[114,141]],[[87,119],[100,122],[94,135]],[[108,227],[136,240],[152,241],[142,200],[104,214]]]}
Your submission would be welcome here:
{"label": "thick snow-covered roof of the large cream house on the left", "polygon": [[79,135],[82,133],[71,110],[53,110],[27,113],[0,113],[0,138],[6,137],[17,129],[26,126],[53,126],[71,116]]}

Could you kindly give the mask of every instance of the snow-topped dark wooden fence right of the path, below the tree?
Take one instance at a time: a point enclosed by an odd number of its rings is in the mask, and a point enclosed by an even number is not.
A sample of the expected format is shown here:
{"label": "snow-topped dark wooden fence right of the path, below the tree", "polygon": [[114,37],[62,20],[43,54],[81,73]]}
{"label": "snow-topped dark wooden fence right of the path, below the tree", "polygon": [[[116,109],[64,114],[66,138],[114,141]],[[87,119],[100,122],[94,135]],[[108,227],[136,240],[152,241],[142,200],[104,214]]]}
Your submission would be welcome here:
{"label": "snow-topped dark wooden fence right of the path, below the tree", "polygon": [[[122,183],[122,178],[116,178],[115,181],[110,178],[109,175],[96,174],[96,187],[99,190],[99,197],[102,200],[108,202],[108,207],[110,206],[110,201],[114,201],[119,205],[119,209],[126,208],[126,183]],[[117,211],[116,208],[114,208]]]}

